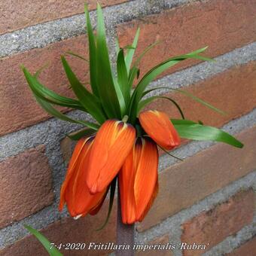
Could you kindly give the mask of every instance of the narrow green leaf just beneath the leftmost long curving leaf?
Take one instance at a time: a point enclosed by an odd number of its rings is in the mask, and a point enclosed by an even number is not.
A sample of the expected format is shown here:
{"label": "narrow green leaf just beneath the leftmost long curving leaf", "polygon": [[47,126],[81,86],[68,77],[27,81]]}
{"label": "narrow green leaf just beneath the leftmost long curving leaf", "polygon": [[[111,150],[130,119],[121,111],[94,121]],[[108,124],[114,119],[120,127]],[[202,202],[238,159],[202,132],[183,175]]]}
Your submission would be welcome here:
{"label": "narrow green leaf just beneath the leftmost long curving leaf", "polygon": [[79,123],[84,126],[88,126],[93,130],[99,129],[99,125],[96,123],[90,123],[90,122],[87,122],[84,120],[72,119],[72,118],[66,116],[65,114],[62,114],[61,112],[57,111],[56,108],[53,108],[53,106],[50,105],[50,103],[44,102],[44,100],[38,98],[37,96],[35,96],[35,99],[38,102],[38,104],[41,105],[41,107],[44,108],[44,110],[47,111],[47,113],[53,115],[53,117],[59,118],[60,120],[68,121],[70,123]]}

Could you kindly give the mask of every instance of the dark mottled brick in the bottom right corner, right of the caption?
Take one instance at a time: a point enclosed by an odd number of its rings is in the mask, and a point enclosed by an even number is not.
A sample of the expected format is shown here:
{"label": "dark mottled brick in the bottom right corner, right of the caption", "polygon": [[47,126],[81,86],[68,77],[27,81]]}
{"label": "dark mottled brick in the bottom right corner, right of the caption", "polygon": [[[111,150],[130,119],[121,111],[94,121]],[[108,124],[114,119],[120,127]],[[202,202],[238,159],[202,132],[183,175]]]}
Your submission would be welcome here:
{"label": "dark mottled brick in the bottom right corner, right of the caption", "polygon": [[[242,191],[226,203],[192,218],[182,225],[181,241],[187,244],[207,245],[206,251],[217,245],[253,219],[253,190]],[[183,250],[184,256],[201,255],[203,250]],[[239,254],[248,255],[248,254]]]}

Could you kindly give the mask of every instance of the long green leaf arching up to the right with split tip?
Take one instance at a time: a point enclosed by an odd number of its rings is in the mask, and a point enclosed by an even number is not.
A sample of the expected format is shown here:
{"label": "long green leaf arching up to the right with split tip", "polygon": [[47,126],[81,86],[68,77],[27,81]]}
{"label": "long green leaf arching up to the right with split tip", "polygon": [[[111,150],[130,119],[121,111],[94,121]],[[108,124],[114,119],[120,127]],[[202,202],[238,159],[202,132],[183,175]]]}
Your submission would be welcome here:
{"label": "long green leaf arching up to the right with split tip", "polygon": [[[197,52],[202,52],[205,50],[205,48],[199,49]],[[195,52],[188,53],[181,56],[175,56],[170,59],[167,59],[165,62],[161,62],[159,65],[155,66],[153,69],[151,69],[144,77],[139,81],[139,84],[137,85],[136,89],[133,91],[133,96],[130,100],[130,106],[129,106],[129,116],[130,116],[130,122],[134,123],[136,120],[136,113],[137,113],[137,106],[139,104],[140,99],[142,98],[142,95],[145,91],[145,88],[148,86],[148,84],[153,81],[155,78],[157,78],[158,75],[160,75],[162,72],[166,71],[166,69],[169,69],[171,66],[174,66],[178,62],[181,62],[184,59],[203,59],[203,60],[210,60],[209,58],[199,56]]]}

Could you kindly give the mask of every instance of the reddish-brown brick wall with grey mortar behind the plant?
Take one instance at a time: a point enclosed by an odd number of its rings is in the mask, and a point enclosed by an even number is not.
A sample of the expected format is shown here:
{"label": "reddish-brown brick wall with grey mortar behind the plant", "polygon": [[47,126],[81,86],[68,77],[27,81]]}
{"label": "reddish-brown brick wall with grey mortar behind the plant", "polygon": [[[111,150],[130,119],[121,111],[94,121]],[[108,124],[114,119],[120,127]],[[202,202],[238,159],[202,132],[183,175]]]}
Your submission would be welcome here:
{"label": "reddish-brown brick wall with grey mortar behind the plant", "polygon": [[[116,206],[107,227],[107,203],[95,217],[74,221],[57,210],[59,188],[74,143],[66,133],[80,127],[50,118],[32,98],[20,72],[23,63],[35,71],[50,62],[41,81],[72,96],[59,55],[66,50],[87,55],[83,2],[3,1],[0,12],[0,255],[47,255],[23,224],[41,230],[52,242],[115,241]],[[150,87],[182,87],[218,108],[221,116],[202,105],[172,95],[187,118],[221,127],[236,135],[242,150],[211,142],[187,142],[173,154],[162,154],[160,192],[148,216],[136,225],[136,242],[177,245],[169,251],[138,251],[139,255],[254,255],[256,253],[256,2],[254,0],[111,0],[104,6],[114,59],[114,37],[130,44],[141,28],[138,54],[156,39],[162,44],[142,60],[142,73],[168,56],[209,45],[215,63],[184,62]],[[89,1],[95,23],[96,1]],[[84,78],[87,66],[72,66]],[[177,111],[166,101],[154,102],[169,116]],[[68,111],[67,109],[62,109]],[[69,115],[87,119],[79,111]],[[205,249],[178,248],[182,244]],[[64,251],[65,255],[109,254],[111,251]]]}

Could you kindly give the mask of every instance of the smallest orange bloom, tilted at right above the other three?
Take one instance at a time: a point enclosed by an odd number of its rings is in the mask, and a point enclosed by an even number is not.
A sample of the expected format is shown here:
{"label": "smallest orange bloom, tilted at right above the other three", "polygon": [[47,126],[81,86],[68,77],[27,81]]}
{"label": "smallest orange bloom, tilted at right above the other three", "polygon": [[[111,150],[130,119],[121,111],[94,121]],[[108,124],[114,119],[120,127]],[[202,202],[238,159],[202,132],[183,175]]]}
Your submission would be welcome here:
{"label": "smallest orange bloom, tilted at right above the other three", "polygon": [[181,144],[181,139],[167,114],[156,110],[145,111],[139,114],[139,122],[160,147],[171,150]]}

